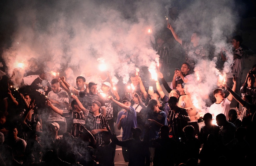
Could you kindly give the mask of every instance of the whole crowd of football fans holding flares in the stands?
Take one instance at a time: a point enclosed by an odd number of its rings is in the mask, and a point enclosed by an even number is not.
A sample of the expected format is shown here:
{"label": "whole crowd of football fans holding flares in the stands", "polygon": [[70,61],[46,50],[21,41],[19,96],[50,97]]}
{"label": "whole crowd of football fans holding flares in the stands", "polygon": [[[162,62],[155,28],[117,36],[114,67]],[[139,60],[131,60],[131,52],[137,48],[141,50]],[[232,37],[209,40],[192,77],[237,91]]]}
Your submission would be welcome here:
{"label": "whole crowd of football fans holding flares in the stands", "polygon": [[[168,29],[184,49],[185,59],[181,69],[168,76],[171,62],[165,40],[159,36],[151,43],[160,56],[155,90],[136,72],[130,74],[131,88],[123,89],[122,96],[109,74],[101,84],[87,84],[85,77],[78,76],[73,87],[65,76],[52,78],[42,71],[22,78],[20,89],[4,76],[0,166],[113,166],[116,145],[122,147],[124,161],[136,166],[197,165],[199,160],[200,165],[245,165],[253,161],[256,65],[241,80],[245,52],[241,36],[233,37],[232,53],[225,48],[220,52],[223,61],[233,57],[231,72],[226,82],[216,78],[210,94],[200,96],[208,103],[205,113],[195,107],[194,91],[188,85],[195,81],[195,66],[208,58],[209,51],[201,44],[199,32],[185,42],[170,24]],[[232,101],[243,109],[230,109]],[[121,141],[115,129],[122,129]]]}

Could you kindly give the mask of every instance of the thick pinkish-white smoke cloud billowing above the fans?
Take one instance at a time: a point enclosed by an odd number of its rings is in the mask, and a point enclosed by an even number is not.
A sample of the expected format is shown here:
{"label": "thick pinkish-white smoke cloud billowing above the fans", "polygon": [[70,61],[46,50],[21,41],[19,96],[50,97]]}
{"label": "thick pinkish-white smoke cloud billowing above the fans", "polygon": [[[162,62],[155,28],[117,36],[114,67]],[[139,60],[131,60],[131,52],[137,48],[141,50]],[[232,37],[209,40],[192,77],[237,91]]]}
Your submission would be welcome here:
{"label": "thick pinkish-white smoke cloud billowing above the fans", "polygon": [[[118,82],[115,75],[127,83],[129,73],[136,67],[156,69],[158,55],[151,48],[149,35],[166,30],[167,16],[182,39],[189,40],[194,31],[199,31],[202,44],[211,45],[207,47],[210,60],[200,62],[195,68],[204,80],[203,85],[192,84],[192,87],[200,85],[196,95],[200,102],[200,96],[209,92],[217,81],[219,71],[213,57],[222,47],[231,49],[227,41],[239,22],[237,5],[243,4],[222,0],[12,3],[7,7],[14,12],[16,29],[3,59],[8,75],[17,86],[28,71],[39,69],[61,74],[66,71],[73,78],[82,75],[87,81],[99,82],[98,66],[103,63],[115,83]],[[148,29],[152,29],[153,34],[149,34]],[[225,72],[231,63],[232,57],[229,57]]]}

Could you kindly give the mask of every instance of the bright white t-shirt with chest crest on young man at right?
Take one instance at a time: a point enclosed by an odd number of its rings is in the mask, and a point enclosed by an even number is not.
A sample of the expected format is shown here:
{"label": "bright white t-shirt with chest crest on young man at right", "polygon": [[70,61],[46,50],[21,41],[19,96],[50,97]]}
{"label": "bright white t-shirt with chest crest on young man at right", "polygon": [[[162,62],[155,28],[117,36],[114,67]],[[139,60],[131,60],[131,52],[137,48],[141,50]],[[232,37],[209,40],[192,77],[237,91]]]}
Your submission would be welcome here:
{"label": "bright white t-shirt with chest crest on young man at right", "polygon": [[216,117],[219,114],[224,114],[228,118],[228,111],[230,110],[231,101],[225,98],[220,104],[213,103],[210,107],[209,113]]}

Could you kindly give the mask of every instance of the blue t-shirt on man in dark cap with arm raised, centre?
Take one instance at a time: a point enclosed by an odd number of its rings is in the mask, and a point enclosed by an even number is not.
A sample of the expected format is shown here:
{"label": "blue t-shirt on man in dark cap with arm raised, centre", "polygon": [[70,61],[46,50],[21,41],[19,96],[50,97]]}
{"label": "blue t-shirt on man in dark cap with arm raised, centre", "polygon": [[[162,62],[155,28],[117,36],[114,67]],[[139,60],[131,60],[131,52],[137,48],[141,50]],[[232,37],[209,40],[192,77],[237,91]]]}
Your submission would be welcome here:
{"label": "blue t-shirt on man in dark cap with arm raised, centre", "polygon": [[137,127],[136,112],[135,112],[135,109],[131,106],[130,106],[130,111],[119,112],[118,117],[117,117],[117,124],[119,123],[122,115],[126,116],[124,119],[121,120],[121,126],[123,128],[122,140],[127,140],[128,138],[132,137],[131,128]]}

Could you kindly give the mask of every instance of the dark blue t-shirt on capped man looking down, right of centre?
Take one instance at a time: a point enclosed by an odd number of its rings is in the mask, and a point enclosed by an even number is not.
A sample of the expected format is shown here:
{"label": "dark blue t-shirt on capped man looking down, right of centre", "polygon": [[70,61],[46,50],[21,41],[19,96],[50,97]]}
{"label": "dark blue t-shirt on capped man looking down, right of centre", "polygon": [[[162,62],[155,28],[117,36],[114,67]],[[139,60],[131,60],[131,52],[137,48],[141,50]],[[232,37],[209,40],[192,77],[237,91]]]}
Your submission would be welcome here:
{"label": "dark blue t-shirt on capped man looking down, right of centre", "polygon": [[[164,111],[160,111],[158,113],[150,112],[147,116],[147,119],[153,119],[162,125],[168,125],[167,124],[167,116]],[[149,122],[147,122],[147,123],[149,123]],[[151,128],[149,130],[149,139],[158,138],[158,133],[160,131],[160,127],[157,124],[155,124],[154,122],[150,123],[149,125],[151,126]]]}

